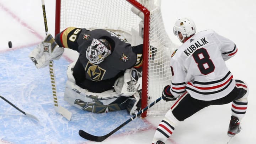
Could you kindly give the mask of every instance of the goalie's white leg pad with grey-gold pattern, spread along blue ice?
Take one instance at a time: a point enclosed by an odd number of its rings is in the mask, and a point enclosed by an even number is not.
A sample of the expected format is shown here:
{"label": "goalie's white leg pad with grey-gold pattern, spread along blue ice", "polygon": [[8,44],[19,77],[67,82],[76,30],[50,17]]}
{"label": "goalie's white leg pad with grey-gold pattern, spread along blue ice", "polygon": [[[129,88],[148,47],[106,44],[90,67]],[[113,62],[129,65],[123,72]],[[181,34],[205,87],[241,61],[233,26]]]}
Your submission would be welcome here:
{"label": "goalie's white leg pad with grey-gold pattern, spread along blue ice", "polygon": [[[81,110],[86,110],[95,113],[122,110],[119,103],[113,103],[122,95],[117,94],[114,90],[108,90],[101,93],[90,92],[82,89],[75,83],[73,76],[73,68],[75,62],[68,66],[64,100]],[[94,108],[92,108],[94,107]]]}

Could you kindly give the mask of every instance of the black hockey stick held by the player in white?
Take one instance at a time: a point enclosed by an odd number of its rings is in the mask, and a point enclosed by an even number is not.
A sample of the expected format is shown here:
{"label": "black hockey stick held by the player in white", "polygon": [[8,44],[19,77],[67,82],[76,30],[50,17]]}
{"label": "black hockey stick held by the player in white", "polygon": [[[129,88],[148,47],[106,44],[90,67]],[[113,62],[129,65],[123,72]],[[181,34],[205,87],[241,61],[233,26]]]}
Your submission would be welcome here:
{"label": "black hockey stick held by the player in white", "polygon": [[118,126],[117,128],[115,128],[114,130],[112,130],[110,133],[103,135],[103,136],[95,136],[95,135],[91,135],[89,133],[86,133],[84,130],[79,130],[79,135],[82,138],[85,138],[87,140],[91,140],[91,141],[95,141],[95,142],[102,142],[103,140],[105,140],[106,138],[110,137],[113,133],[115,133],[117,130],[121,129],[123,126],[125,126],[126,124],[128,124],[129,122],[131,122],[133,119],[137,118],[137,116],[139,116],[140,114],[142,114],[144,111],[148,110],[150,107],[154,106],[157,102],[159,102],[162,99],[162,97],[159,97],[158,99],[156,99],[154,102],[150,103],[148,106],[146,106],[145,108],[143,108],[141,111],[139,111],[136,115],[134,115],[133,117],[129,118],[126,122],[122,123],[120,126]]}

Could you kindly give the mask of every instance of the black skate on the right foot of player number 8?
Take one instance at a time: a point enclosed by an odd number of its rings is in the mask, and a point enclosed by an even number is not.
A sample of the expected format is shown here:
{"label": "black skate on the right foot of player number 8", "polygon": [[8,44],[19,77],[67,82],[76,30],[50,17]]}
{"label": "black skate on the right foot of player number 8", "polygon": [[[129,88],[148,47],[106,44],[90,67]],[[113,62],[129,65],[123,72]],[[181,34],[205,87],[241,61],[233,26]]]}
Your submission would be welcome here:
{"label": "black skate on the right foot of player number 8", "polygon": [[234,137],[236,134],[240,133],[241,127],[238,122],[239,119],[237,117],[231,116],[231,120],[229,123],[228,136]]}

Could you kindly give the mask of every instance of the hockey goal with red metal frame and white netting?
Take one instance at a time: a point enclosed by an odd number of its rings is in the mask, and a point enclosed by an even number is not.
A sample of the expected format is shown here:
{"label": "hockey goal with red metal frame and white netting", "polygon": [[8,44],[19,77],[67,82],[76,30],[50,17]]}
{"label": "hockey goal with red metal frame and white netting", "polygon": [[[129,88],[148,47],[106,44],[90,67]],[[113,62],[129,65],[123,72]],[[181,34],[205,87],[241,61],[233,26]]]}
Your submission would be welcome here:
{"label": "hockey goal with red metal frame and white netting", "polygon": [[[101,28],[121,32],[132,46],[138,44],[134,41],[143,37],[144,108],[162,95],[164,86],[170,85],[169,62],[172,52],[177,48],[165,32],[160,5],[160,0],[56,0],[55,34],[70,26]],[[131,10],[134,7],[139,11],[136,14]],[[172,104],[160,101],[144,112],[142,117],[163,115]]]}

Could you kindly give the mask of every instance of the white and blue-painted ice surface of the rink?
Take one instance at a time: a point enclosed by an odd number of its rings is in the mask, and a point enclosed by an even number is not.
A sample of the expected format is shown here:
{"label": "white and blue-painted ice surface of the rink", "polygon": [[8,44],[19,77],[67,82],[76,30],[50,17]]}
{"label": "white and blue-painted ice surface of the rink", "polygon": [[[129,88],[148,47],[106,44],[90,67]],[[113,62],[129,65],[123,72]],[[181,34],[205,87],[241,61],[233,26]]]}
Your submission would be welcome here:
{"label": "white and blue-painted ice surface of the rink", "polygon": [[[54,33],[54,0],[45,0],[48,29]],[[166,31],[173,42],[173,23],[179,17],[190,17],[197,31],[213,29],[232,39],[238,54],[226,63],[235,79],[249,85],[249,105],[242,120],[242,131],[231,144],[255,144],[255,0],[162,0]],[[0,143],[13,144],[96,144],[82,139],[78,130],[105,135],[126,121],[126,111],[93,114],[80,111],[63,100],[66,68],[77,54],[66,50],[54,61],[60,105],[73,113],[71,121],[53,109],[48,68],[36,69],[28,54],[44,38],[41,1],[0,0],[0,95],[21,110],[40,119],[36,122],[0,99]],[[12,41],[13,48],[8,48]],[[231,105],[210,106],[175,127],[166,144],[226,144]],[[162,117],[137,118],[102,144],[150,144]]]}

